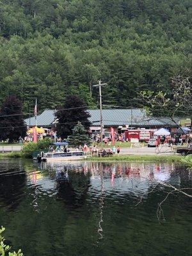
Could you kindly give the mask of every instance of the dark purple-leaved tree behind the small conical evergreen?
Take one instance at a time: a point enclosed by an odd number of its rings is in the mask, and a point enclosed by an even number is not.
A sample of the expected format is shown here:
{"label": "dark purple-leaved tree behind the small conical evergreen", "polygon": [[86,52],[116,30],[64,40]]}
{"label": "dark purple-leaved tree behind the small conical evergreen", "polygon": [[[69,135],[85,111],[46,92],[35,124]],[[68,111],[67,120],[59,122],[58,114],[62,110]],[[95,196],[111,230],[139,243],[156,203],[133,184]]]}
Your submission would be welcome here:
{"label": "dark purple-leaved tree behind the small conical evergreen", "polygon": [[91,125],[88,120],[89,117],[90,114],[87,112],[87,107],[83,100],[75,95],[68,96],[63,108],[56,113],[56,118],[58,118],[58,136],[62,139],[67,138],[67,136],[72,134],[72,129],[77,122],[81,122],[88,134]]}

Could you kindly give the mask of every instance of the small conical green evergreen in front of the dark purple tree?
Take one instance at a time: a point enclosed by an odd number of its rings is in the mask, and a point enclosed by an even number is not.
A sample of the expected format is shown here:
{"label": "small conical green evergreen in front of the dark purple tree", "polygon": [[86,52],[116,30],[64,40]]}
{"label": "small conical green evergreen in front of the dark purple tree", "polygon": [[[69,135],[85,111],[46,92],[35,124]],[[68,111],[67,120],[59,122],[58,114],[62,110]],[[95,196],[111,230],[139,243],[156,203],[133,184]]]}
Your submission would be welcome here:
{"label": "small conical green evergreen in front of the dark purple tree", "polygon": [[91,144],[91,139],[81,122],[78,122],[74,129],[72,129],[72,136],[68,136],[68,141],[74,147],[79,147],[79,145],[84,145],[84,143],[87,145]]}

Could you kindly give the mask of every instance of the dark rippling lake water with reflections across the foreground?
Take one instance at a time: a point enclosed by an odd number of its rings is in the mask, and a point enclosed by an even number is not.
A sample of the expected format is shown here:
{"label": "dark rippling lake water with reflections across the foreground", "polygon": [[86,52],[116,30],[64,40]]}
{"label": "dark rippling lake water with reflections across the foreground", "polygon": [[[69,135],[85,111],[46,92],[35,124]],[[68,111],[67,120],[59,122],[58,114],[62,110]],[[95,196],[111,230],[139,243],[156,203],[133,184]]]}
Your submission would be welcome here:
{"label": "dark rippling lake water with reflections across the foreground", "polygon": [[0,226],[26,256],[191,255],[191,199],[170,194],[157,214],[172,190],[161,183],[191,188],[191,177],[164,162],[1,160]]}

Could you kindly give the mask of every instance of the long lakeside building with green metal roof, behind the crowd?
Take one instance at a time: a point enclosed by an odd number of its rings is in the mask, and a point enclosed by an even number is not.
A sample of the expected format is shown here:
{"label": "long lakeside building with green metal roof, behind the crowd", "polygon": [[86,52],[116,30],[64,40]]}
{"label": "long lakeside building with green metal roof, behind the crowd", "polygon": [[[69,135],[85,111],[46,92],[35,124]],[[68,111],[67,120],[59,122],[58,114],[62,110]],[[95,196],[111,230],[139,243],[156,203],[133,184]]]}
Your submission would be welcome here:
{"label": "long lakeside building with green metal roof, behind the crowd", "polygon": [[[90,122],[92,127],[90,129],[93,132],[100,131],[100,110],[88,109],[90,113]],[[56,110],[45,109],[40,115],[26,118],[25,122],[28,127],[37,125],[38,127],[44,127],[49,129],[56,129],[57,120],[55,116]],[[102,110],[103,125],[105,131],[110,131],[111,127],[118,131],[126,131],[127,129],[159,129],[164,127],[171,132],[177,130],[177,124],[179,124],[179,118],[175,119],[175,122],[170,118],[148,116],[144,109],[103,109]]]}

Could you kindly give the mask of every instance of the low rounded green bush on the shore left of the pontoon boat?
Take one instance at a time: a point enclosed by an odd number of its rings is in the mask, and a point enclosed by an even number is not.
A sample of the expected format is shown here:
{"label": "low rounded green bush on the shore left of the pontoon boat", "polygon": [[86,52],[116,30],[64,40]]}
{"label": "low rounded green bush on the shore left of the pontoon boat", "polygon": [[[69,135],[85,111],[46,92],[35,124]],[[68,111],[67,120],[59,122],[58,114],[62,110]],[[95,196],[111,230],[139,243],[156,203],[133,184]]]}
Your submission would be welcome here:
{"label": "low rounded green bush on the shore left of the pontoon boat", "polygon": [[50,143],[52,143],[52,140],[47,138],[44,140],[39,140],[37,143],[28,142],[22,147],[22,156],[26,158],[32,158],[33,152],[48,149]]}

